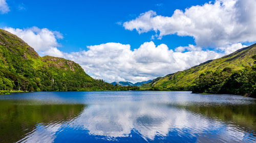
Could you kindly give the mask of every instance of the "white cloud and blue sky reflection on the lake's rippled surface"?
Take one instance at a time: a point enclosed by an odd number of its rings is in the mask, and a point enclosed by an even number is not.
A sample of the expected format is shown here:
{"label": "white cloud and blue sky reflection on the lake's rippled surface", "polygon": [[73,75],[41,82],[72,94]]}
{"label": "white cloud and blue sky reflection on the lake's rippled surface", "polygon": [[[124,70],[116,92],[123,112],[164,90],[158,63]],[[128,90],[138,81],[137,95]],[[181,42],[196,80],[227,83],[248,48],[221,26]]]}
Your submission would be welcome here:
{"label": "white cloud and blue sky reflection on the lake's rippled surface", "polygon": [[138,135],[144,139],[143,142],[177,139],[193,142],[193,138],[197,142],[255,139],[255,132],[238,128],[237,124],[224,123],[179,107],[143,103],[90,106],[72,122],[67,131],[70,129],[112,140],[128,137],[131,141],[132,136]]}

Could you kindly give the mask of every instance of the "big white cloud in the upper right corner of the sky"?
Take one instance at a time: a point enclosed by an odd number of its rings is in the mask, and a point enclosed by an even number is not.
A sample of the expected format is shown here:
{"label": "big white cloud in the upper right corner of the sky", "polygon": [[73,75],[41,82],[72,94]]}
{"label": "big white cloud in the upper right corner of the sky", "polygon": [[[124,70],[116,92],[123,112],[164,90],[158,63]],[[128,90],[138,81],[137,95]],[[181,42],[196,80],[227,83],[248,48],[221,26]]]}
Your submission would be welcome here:
{"label": "big white cloud in the upper right corner of the sky", "polygon": [[226,46],[256,41],[256,1],[216,0],[185,11],[175,10],[170,17],[154,11],[140,14],[123,23],[126,30],[138,33],[159,32],[157,37],[177,34],[195,38],[198,46]]}

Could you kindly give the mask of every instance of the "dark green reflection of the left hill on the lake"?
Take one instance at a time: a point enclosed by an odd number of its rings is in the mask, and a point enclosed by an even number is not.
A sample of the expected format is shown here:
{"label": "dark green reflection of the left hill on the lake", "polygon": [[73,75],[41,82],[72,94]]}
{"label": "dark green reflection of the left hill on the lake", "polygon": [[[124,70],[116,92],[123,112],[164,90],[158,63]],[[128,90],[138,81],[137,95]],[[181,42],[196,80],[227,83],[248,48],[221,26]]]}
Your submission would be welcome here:
{"label": "dark green reflection of the left hill on the lake", "polygon": [[[83,104],[35,103],[0,100],[0,142],[15,142],[27,138],[31,132],[40,132],[42,127],[49,131],[55,130],[60,123],[77,117],[85,107]],[[44,136],[42,132],[39,134]]]}

